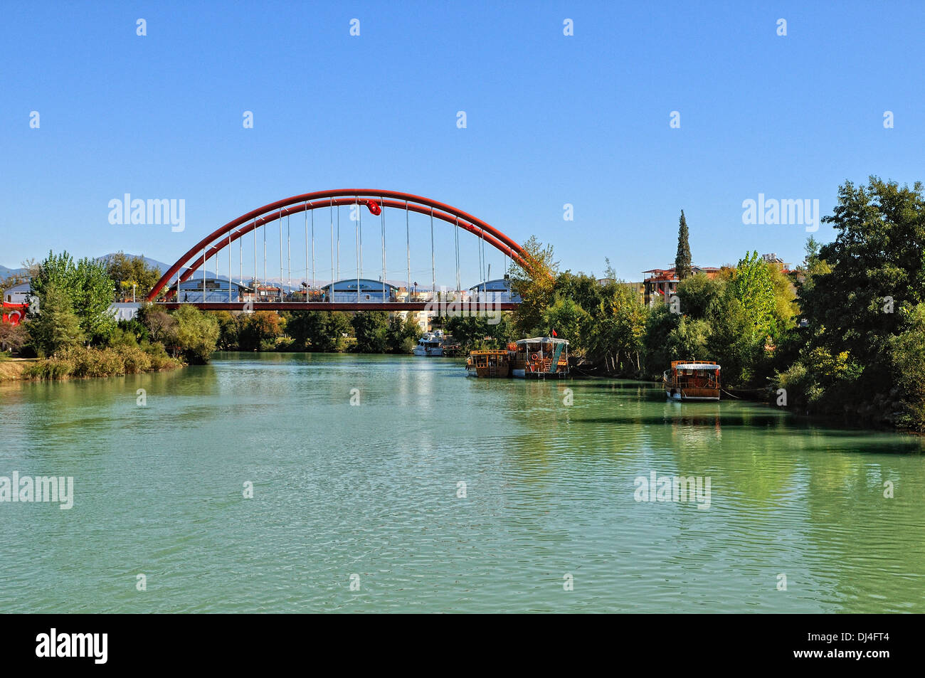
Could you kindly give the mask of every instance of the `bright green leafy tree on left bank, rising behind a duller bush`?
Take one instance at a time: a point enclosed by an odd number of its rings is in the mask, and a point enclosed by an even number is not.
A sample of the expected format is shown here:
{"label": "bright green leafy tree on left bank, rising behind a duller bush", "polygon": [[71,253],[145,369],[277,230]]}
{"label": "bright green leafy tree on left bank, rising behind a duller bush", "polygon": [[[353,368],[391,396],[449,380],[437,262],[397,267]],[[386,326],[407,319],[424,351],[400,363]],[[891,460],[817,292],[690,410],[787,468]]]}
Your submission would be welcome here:
{"label": "bright green leafy tree on left bank, rising behind a duller bush", "polygon": [[[106,275],[105,266],[84,257],[74,264],[67,252],[48,253],[35,269],[31,279],[32,292],[38,297],[41,314],[48,290],[55,287],[68,295],[71,309],[77,315],[84,338],[98,344],[105,344],[109,333],[116,327],[115,318],[108,313],[114,299],[114,283]],[[31,317],[36,314],[30,309]]]}

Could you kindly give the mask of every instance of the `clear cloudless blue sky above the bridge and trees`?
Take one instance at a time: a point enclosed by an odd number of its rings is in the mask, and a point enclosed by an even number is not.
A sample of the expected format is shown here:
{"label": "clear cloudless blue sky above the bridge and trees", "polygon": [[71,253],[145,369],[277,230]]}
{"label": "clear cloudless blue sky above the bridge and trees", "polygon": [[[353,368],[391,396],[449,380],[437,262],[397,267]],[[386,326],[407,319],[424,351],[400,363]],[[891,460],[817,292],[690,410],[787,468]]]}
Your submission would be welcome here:
{"label": "clear cloudless blue sky above the bridge and trees", "polygon": [[[638,280],[672,265],[681,209],[696,264],[753,249],[796,264],[805,229],[746,226],[742,202],[819,199],[829,214],[845,179],[925,179],[923,31],[920,2],[6,3],[0,264],[49,249],[172,263],[256,206],[342,187],[454,204],[551,242],[574,271],[600,275],[610,257]],[[186,230],[110,225],[126,192],[184,199]],[[413,277],[429,284],[429,230],[412,227]],[[327,216],[316,228],[329,277]],[[364,219],[373,277],[378,239]],[[403,228],[388,239],[388,277],[403,279]],[[475,239],[461,247],[475,284]],[[438,248],[438,284],[452,285],[442,224]],[[497,277],[500,256],[488,261]]]}

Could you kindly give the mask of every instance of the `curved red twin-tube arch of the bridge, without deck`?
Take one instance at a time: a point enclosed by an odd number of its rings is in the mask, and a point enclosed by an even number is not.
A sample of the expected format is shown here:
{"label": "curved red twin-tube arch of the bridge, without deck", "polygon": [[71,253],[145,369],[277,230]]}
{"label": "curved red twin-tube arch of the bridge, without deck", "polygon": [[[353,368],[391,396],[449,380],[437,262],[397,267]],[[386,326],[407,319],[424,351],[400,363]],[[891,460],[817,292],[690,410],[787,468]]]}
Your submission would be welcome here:
{"label": "curved red twin-tube arch of the bridge, without deck", "polygon": [[255,228],[264,227],[277,221],[277,219],[282,219],[283,216],[352,204],[365,207],[375,215],[379,214],[375,210],[386,207],[431,215],[454,226],[458,225],[460,228],[481,238],[499,252],[511,257],[512,261],[523,266],[526,270],[531,269],[528,254],[520,244],[482,219],[470,215],[457,207],[401,191],[335,189],[302,193],[301,195],[293,195],[289,198],[277,200],[275,203],[268,203],[251,210],[247,214],[229,221],[221,228],[216,228],[216,230],[205,236],[203,240],[193,245],[174,265],[171,265],[154,284],[154,288],[148,292],[145,299],[149,302],[154,301],[161,290],[164,290],[170,284],[171,279],[177,276],[179,271],[184,268],[184,272],[179,275],[179,282],[185,282],[206,261]]}

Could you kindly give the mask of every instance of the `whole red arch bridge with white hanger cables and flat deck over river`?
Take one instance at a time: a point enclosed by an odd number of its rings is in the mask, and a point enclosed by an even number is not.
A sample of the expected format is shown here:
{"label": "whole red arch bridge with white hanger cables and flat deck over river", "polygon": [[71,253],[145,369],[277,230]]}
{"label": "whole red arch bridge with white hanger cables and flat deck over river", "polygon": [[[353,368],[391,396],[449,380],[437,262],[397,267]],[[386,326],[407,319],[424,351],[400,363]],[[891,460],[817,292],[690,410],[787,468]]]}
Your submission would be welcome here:
{"label": "whole red arch bridge with white hanger cables and flat deck over river", "polygon": [[[348,242],[352,240],[354,246],[354,252],[345,258],[342,268],[341,211],[348,213],[348,217],[344,219],[347,227],[345,239]],[[299,260],[302,259],[302,253],[298,250],[302,249],[302,238],[298,232],[300,220],[297,220],[297,275],[294,278],[296,282],[295,291],[293,291],[291,219],[292,216],[300,214],[304,215],[304,268],[300,270]],[[316,217],[316,214],[319,217]],[[411,227],[413,215],[416,221],[414,236]],[[323,224],[325,216],[328,221],[327,228]],[[422,221],[425,234],[419,237]],[[455,247],[455,292],[441,292],[437,288],[435,221],[445,222],[452,226]],[[316,224],[316,222],[321,223]],[[370,223],[375,230],[379,231],[375,233],[375,236],[380,242],[381,266],[379,262],[376,262],[370,273],[376,278],[364,275],[364,224],[367,225],[368,242]],[[272,253],[273,265],[268,268],[267,235],[271,236],[272,246],[274,244],[272,240],[277,232],[278,268],[275,268],[275,252]],[[478,253],[478,283],[470,289],[471,294],[462,297],[459,294],[462,291],[461,232],[475,235]],[[401,272],[406,275],[404,290],[401,292],[399,291],[400,286],[388,283],[387,233],[393,244],[391,251],[394,251],[394,240],[403,240]],[[319,236],[317,241],[316,235]],[[442,235],[446,237],[447,234],[444,232]],[[318,242],[325,244],[323,242],[325,236],[329,236],[330,247],[316,247]],[[513,310],[517,307],[519,300],[515,296],[512,297],[510,291],[492,292],[488,290],[487,277],[489,276],[487,273],[490,272],[490,264],[487,263],[487,259],[492,251],[489,249],[488,253],[486,252],[486,244],[494,249],[494,256],[497,257],[497,253],[500,253],[503,257],[502,272],[506,271],[509,259],[527,271],[530,270],[528,254],[517,242],[482,219],[449,204],[399,191],[368,189],[314,191],[293,195],[290,198],[278,200],[276,203],[265,204],[263,207],[258,207],[229,221],[221,228],[216,228],[167,269],[147,294],[146,300],[155,302],[163,292],[163,297],[156,302],[166,308],[178,308],[184,303],[191,303],[204,310],[213,311],[240,311],[253,307],[257,310],[277,311],[434,310],[437,312],[435,302],[449,305],[454,301],[466,304],[464,308],[470,311],[489,308],[491,310]],[[425,268],[412,269],[413,245],[417,250],[418,261],[415,262],[417,265],[420,265],[422,258],[420,251],[429,247],[429,253],[425,253],[423,257]],[[465,246],[464,242],[463,246]],[[326,252],[327,249],[330,250],[329,253]],[[233,261],[235,250],[238,254],[235,257],[237,262]],[[248,251],[253,251],[253,256],[252,252]],[[223,272],[221,268],[226,255],[228,267]],[[327,268],[328,255],[329,268]],[[247,267],[245,267],[245,260],[247,260]],[[208,266],[214,267],[211,279],[206,274]],[[202,271],[199,278],[194,276],[197,270]],[[320,286],[317,274],[325,270],[330,273],[329,282]],[[236,273],[237,276],[235,276]],[[418,291],[417,283],[413,282],[413,273],[424,276],[429,274],[429,289],[422,286]],[[393,269],[393,279],[395,275],[396,272]],[[397,275],[401,276],[401,273]],[[235,277],[238,278],[237,283],[234,282]],[[246,284],[245,280],[248,280]]]}

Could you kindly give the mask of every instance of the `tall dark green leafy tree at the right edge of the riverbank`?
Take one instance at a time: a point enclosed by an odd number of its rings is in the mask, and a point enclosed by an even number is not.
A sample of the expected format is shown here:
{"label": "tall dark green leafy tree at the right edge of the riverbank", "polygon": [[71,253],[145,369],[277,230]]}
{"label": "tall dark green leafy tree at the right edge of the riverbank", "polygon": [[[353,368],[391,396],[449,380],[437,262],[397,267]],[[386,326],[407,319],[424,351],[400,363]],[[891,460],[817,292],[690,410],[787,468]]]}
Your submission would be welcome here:
{"label": "tall dark green leafy tree at the right edge of the riverbank", "polygon": [[[894,394],[904,403],[904,425],[921,425],[915,412],[919,391],[919,304],[925,302],[925,197],[870,177],[866,186],[846,181],[832,216],[833,242],[814,251],[814,267],[800,288],[808,321],[800,362],[804,379],[818,385],[820,409],[894,421]],[[810,249],[812,248],[812,249]],[[823,371],[820,356],[835,367]]]}

